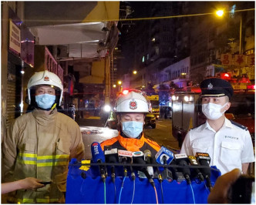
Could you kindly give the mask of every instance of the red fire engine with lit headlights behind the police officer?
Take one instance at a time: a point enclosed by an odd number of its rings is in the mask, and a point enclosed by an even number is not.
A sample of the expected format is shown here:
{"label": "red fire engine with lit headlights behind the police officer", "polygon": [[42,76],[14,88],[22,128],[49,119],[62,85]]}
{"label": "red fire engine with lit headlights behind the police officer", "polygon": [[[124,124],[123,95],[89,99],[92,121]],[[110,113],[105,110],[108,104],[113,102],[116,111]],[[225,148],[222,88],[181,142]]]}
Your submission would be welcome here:
{"label": "red fire engine with lit headlights behind the police officer", "polygon": [[[229,73],[220,73],[217,76],[231,82],[234,89],[231,108],[227,110],[225,116],[247,126],[254,144],[254,84],[246,75],[238,79],[231,78]],[[180,147],[187,132],[206,121],[201,111],[200,92],[199,87],[187,87],[184,91],[174,92],[172,96],[172,134]]]}

